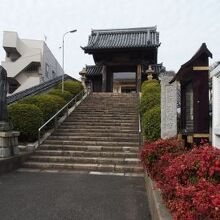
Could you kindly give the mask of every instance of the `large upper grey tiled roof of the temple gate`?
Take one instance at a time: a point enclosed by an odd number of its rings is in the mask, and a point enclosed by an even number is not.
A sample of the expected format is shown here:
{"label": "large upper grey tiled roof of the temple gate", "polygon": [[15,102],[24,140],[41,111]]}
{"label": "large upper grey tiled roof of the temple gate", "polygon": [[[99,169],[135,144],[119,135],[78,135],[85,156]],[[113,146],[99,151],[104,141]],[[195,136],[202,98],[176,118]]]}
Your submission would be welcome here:
{"label": "large upper grey tiled roof of the temple gate", "polygon": [[96,49],[158,47],[159,32],[154,27],[92,30],[85,52]]}

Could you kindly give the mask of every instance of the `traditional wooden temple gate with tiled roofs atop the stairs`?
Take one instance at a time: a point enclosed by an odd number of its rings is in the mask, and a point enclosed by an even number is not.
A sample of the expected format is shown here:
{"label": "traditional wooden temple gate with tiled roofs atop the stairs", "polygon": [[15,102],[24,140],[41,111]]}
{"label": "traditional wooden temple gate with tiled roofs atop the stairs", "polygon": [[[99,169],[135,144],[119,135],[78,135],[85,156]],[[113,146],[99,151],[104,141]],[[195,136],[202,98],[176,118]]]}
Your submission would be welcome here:
{"label": "traditional wooden temple gate with tiled roofs atop the stairs", "polygon": [[86,66],[80,74],[85,73],[95,92],[139,92],[150,66],[154,78],[165,70],[157,63],[159,46],[156,26],[92,30],[82,49],[93,55],[95,65]]}

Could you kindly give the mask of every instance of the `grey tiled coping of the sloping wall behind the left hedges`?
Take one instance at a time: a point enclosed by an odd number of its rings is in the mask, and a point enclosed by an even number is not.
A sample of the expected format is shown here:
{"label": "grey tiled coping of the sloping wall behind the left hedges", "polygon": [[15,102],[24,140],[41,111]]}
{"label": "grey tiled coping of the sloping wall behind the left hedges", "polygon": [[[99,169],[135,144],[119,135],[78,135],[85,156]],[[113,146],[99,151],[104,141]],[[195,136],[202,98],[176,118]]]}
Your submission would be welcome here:
{"label": "grey tiled coping of the sloping wall behind the left hedges", "polygon": [[[30,95],[37,95],[41,92],[44,92],[44,91],[47,91],[48,89],[54,87],[55,85],[59,84],[61,82],[61,79],[62,79],[62,76],[58,76],[54,79],[51,79],[51,80],[48,80],[44,83],[41,83],[37,86],[33,86],[29,89],[26,89],[26,90],[23,90],[21,92],[18,92],[18,93],[15,93],[13,95],[10,95],[7,97],[7,103],[8,104],[11,104],[13,102],[16,102],[18,101],[19,99],[22,99],[26,96],[30,96]],[[64,75],[64,79],[67,80],[67,79],[73,79],[75,80],[74,78],[72,78],[71,76],[69,75]]]}

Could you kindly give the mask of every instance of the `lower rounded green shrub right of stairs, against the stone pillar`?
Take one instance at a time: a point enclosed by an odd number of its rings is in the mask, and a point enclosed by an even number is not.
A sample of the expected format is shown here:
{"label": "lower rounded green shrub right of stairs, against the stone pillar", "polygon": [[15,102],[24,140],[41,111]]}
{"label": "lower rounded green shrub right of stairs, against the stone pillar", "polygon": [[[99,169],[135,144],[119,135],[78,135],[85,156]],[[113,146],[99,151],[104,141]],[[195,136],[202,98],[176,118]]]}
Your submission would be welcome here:
{"label": "lower rounded green shrub right of stairs, against the stone pillar", "polygon": [[142,128],[147,140],[160,138],[160,106],[153,107],[143,114]]}

